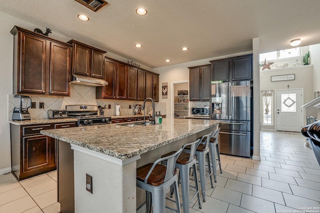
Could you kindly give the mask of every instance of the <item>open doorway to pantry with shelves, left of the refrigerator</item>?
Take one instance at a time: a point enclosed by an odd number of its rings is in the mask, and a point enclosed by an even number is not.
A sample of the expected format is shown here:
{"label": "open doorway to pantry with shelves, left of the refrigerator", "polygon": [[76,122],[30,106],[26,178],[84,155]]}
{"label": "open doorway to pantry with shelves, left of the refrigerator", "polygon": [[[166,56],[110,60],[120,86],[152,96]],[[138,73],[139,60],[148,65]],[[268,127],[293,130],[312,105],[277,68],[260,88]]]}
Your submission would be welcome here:
{"label": "open doorway to pantry with shelves, left of the refrigerator", "polygon": [[[189,81],[174,81],[171,83],[171,116],[172,118],[183,118],[189,116]],[[187,91],[179,94],[178,90]]]}

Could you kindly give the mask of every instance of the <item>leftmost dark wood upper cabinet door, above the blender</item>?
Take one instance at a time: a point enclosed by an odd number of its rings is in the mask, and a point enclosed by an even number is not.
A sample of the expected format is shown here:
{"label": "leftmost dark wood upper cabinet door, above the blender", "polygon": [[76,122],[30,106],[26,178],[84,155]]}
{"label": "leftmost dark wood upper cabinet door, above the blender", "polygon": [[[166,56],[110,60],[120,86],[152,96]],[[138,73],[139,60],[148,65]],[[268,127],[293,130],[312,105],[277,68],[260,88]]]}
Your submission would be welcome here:
{"label": "leftmost dark wood upper cabinet door, above the blender", "polygon": [[19,33],[18,53],[19,92],[45,93],[46,40],[23,32]]}

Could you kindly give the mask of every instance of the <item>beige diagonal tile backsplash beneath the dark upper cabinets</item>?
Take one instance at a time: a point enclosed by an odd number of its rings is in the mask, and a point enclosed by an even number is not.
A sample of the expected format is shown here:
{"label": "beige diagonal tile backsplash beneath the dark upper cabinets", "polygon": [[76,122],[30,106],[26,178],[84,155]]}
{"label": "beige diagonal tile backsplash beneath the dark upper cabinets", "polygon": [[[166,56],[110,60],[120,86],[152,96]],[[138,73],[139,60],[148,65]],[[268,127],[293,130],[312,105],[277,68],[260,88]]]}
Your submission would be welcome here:
{"label": "beige diagonal tile backsplash beneath the dark upper cabinets", "polygon": [[[121,106],[120,115],[132,115],[132,107],[135,104],[141,104],[143,101],[128,101],[128,100],[112,100],[112,99],[95,99],[95,87],[71,84],[70,97],[50,97],[50,96],[29,96],[32,102],[36,103],[36,108],[29,108],[31,119],[46,119],[48,109],[65,109],[65,105],[96,105],[106,107],[104,115],[114,116],[115,105]],[[39,102],[44,103],[44,108],[39,109]],[[147,101],[145,108],[150,107],[152,104]],[[19,105],[19,99],[14,98],[13,95],[8,95],[8,118],[11,120],[14,106]],[[110,109],[108,105],[111,105]],[[24,105],[23,105],[24,106]],[[131,108],[130,108],[131,107]],[[166,114],[166,103],[155,102],[155,111],[160,111],[161,114]],[[147,112],[146,112],[147,114]]]}

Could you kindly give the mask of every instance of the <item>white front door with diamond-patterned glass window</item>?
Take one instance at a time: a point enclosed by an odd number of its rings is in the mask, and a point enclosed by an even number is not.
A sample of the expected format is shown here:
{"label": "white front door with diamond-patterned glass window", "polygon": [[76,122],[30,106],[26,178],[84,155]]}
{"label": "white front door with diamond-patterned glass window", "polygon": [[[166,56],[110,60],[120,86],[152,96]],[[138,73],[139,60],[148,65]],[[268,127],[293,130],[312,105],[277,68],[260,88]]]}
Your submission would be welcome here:
{"label": "white front door with diamond-patterned glass window", "polygon": [[276,130],[300,132],[302,128],[302,90],[276,91]]}

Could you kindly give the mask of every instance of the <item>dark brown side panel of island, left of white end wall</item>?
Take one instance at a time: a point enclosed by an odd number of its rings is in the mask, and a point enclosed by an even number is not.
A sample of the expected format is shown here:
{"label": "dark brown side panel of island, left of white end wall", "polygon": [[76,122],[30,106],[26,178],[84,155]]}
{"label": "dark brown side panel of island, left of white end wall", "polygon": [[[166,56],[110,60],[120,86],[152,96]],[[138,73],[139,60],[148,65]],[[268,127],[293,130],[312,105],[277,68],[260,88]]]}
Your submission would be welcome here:
{"label": "dark brown side panel of island, left of white end wall", "polygon": [[57,187],[61,213],[74,213],[73,150],[69,143],[58,140]]}

